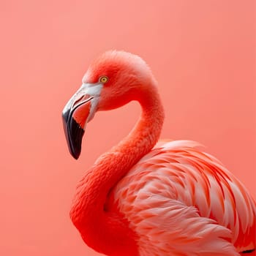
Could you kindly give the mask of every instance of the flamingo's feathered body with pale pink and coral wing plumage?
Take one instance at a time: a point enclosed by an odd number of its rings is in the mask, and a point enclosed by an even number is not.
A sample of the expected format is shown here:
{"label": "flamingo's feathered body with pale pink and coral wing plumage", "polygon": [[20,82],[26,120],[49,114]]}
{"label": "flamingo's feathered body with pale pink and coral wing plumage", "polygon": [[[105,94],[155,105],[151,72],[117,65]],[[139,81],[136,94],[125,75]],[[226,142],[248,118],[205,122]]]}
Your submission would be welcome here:
{"label": "flamingo's feathered body with pale pink and coral wing plumage", "polygon": [[140,255],[238,255],[254,248],[255,203],[196,146],[177,140],[154,148],[113,189],[108,209],[117,204],[129,220]]}

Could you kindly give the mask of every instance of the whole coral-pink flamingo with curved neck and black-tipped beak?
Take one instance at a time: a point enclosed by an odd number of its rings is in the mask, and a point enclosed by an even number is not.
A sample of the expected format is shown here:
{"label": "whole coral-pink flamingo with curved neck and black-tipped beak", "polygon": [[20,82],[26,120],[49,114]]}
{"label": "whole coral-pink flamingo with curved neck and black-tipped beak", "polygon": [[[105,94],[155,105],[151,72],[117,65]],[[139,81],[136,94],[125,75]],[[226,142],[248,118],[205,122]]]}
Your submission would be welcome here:
{"label": "whole coral-pink flamingo with curved neck and black-tipped beak", "polygon": [[70,217],[88,246],[113,256],[236,256],[255,250],[256,206],[244,185],[199,143],[157,143],[164,110],[143,59],[107,51],[89,65],[82,82],[62,113],[75,159],[97,111],[132,100],[142,108],[129,135],[78,183]]}

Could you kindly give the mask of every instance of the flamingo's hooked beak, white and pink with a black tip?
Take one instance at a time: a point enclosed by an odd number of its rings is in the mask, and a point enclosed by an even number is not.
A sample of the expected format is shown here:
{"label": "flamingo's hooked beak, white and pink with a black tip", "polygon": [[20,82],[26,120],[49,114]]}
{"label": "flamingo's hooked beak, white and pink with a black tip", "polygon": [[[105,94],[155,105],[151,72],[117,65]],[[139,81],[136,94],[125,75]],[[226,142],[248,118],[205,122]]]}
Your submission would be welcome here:
{"label": "flamingo's hooked beak, white and pink with a black tip", "polygon": [[101,84],[84,83],[62,112],[64,132],[72,157],[78,159],[86,124],[97,111]]}

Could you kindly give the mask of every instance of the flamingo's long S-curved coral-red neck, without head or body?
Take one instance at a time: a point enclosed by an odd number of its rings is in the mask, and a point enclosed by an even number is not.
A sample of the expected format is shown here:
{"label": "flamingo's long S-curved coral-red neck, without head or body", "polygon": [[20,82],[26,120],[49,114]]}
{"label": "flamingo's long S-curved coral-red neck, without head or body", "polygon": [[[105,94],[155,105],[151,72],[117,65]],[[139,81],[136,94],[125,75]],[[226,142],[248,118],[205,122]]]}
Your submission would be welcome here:
{"label": "flamingo's long S-curved coral-red neck, without head or body", "polygon": [[[154,147],[162,129],[164,111],[156,86],[143,91],[138,101],[142,113],[135,128],[86,171],[78,184],[70,211],[72,222],[83,240],[99,252],[105,252],[112,241],[120,240],[120,233],[132,236],[124,230],[127,228],[124,219],[104,210],[105,202],[110,189]],[[124,240],[128,241],[129,238],[125,237]]]}

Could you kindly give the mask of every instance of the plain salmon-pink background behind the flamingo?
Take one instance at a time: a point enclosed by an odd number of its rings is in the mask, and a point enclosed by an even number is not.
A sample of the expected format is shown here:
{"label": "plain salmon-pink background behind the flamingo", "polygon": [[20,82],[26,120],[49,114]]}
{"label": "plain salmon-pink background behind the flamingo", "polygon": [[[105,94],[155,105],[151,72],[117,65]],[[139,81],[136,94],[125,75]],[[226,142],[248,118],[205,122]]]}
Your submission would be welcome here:
{"label": "plain salmon-pink background behind the flamingo", "polygon": [[0,5],[0,255],[97,255],[69,220],[72,195],[140,108],[98,113],[79,161],[67,150],[61,110],[109,49],[151,66],[166,110],[162,138],[203,143],[256,195],[254,0]]}

